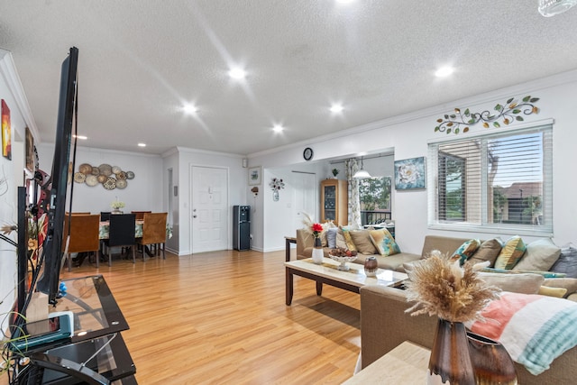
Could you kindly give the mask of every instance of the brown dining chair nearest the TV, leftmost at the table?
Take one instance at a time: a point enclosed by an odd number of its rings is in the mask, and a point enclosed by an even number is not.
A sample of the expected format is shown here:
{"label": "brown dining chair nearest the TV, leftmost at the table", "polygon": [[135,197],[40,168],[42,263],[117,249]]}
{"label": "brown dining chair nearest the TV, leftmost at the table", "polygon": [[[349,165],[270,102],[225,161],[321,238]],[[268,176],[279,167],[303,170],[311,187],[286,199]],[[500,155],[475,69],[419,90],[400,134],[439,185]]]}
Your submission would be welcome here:
{"label": "brown dining chair nearest the TV, leftmost at the table", "polygon": [[[72,252],[96,252],[96,268],[100,256],[100,239],[98,230],[100,215],[66,215],[64,217],[64,235],[62,240],[62,252],[65,252],[69,271],[72,270]],[[70,238],[67,242],[68,235]],[[68,244],[67,244],[68,243]],[[68,248],[67,248],[68,246]]]}

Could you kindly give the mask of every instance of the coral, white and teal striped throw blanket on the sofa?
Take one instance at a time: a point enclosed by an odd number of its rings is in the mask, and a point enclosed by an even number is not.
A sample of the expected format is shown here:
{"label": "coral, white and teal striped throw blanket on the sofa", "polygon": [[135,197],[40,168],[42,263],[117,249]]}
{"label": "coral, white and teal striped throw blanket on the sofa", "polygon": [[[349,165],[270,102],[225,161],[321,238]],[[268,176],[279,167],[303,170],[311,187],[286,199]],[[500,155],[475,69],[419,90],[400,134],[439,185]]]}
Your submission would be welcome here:
{"label": "coral, white and teal striped throw blanket on the sofa", "polygon": [[501,293],[467,323],[473,333],[499,341],[513,361],[537,375],[577,344],[577,303],[536,294]]}

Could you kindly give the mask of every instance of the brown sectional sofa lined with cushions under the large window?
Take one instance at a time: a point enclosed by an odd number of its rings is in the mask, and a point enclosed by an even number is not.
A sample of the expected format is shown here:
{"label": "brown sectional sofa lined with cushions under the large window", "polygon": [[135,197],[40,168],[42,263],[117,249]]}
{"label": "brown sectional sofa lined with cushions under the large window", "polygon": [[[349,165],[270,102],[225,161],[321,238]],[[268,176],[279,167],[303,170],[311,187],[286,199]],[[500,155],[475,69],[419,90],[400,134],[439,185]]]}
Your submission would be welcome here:
{"label": "brown sectional sofa lined with cushions under the large window", "polygon": [[[356,263],[364,263],[369,256],[374,256],[381,269],[406,271],[412,263],[426,257],[433,250],[443,253],[453,253],[470,241],[468,238],[444,237],[427,235],[421,254],[398,252],[383,256],[380,253],[358,254]],[[489,244],[488,242],[482,244]],[[496,243],[492,243],[495,247]],[[484,246],[483,246],[484,247]],[[498,246],[500,247],[500,246]],[[297,258],[310,258],[313,249],[313,238],[306,230],[297,231]],[[328,256],[331,248],[323,248]],[[481,250],[481,249],[480,249]],[[491,251],[493,254],[498,251]],[[481,254],[481,253],[480,253]],[[558,253],[556,254],[558,257]],[[483,256],[472,254],[471,261],[483,261]],[[493,260],[494,262],[494,260]],[[547,261],[545,266],[554,264]],[[527,265],[527,264],[526,264]],[[547,269],[545,269],[547,270]],[[481,272],[491,285],[504,291],[524,294],[538,294],[542,289],[563,289],[563,298],[577,301],[577,279],[546,278],[546,271],[527,272],[511,270],[508,274],[502,272]],[[551,271],[551,276],[557,273]],[[560,274],[563,276],[563,274]],[[564,291],[566,290],[566,291]],[[555,297],[561,297],[554,293]],[[430,316],[410,316],[405,310],[410,307],[406,293],[402,289],[380,286],[365,286],[361,288],[361,335],[362,335],[362,368],[378,360],[383,354],[404,341],[430,348],[435,338],[436,318]],[[572,347],[556,358],[549,370],[539,375],[533,375],[516,362],[518,383],[521,384],[570,384],[577,378],[577,347]]]}

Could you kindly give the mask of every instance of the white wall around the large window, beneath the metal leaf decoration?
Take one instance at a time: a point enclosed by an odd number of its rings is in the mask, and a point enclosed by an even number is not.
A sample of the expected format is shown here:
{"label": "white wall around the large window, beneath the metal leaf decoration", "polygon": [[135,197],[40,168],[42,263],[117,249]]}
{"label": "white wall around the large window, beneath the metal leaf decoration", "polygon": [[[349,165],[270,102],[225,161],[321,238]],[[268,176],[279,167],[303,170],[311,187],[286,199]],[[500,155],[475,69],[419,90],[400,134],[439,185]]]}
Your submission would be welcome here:
{"label": "white wall around the large window, beneath the metal leaf decoration", "polygon": [[[554,242],[560,245],[577,242],[574,218],[577,217],[577,202],[572,191],[577,188],[577,179],[572,178],[571,167],[577,160],[573,143],[577,142],[574,111],[577,108],[577,71],[555,77],[538,79],[515,87],[492,91],[480,96],[458,100],[447,105],[438,105],[426,110],[415,111],[391,119],[356,127],[345,133],[319,137],[298,146],[287,146],[278,151],[263,151],[252,154],[250,164],[261,164],[264,170],[295,167],[303,164],[302,151],[310,146],[315,151],[315,160],[329,160],[335,156],[358,154],[363,151],[393,149],[396,160],[426,156],[427,142],[438,139],[445,133],[435,133],[436,119],[452,112],[455,107],[469,107],[473,111],[492,110],[497,103],[504,103],[509,97],[531,95],[539,97],[538,115],[528,115],[526,122],[538,122],[554,118]],[[512,125],[514,126],[514,125]],[[480,124],[472,126],[471,132],[503,129],[485,129]],[[460,134],[462,136],[466,134]],[[291,166],[288,166],[291,165]],[[365,164],[367,166],[367,164]],[[371,171],[371,170],[369,170]],[[265,218],[274,217],[267,205],[256,208],[263,210]],[[426,190],[393,190],[393,215],[396,222],[397,241],[403,251],[420,253],[426,234],[455,235],[453,232],[434,231],[427,228]],[[276,229],[264,226],[263,239],[266,243],[256,243],[264,251],[282,248],[284,239]],[[498,236],[499,234],[468,234],[459,236]],[[523,235],[523,234],[520,234]],[[529,241],[531,240],[530,237]],[[264,247],[266,246],[266,247]]]}

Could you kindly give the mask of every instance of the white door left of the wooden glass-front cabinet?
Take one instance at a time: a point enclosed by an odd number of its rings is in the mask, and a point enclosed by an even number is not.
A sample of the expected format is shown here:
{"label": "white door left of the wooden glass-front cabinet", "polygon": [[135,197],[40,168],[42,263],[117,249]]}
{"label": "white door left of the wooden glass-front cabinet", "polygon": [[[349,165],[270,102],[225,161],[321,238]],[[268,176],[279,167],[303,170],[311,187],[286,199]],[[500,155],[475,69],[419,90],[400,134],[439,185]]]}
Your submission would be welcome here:
{"label": "white door left of the wooden glass-front cabinet", "polygon": [[294,231],[303,228],[302,213],[310,215],[314,221],[318,222],[316,209],[316,175],[308,172],[292,171],[292,180],[294,181]]}

